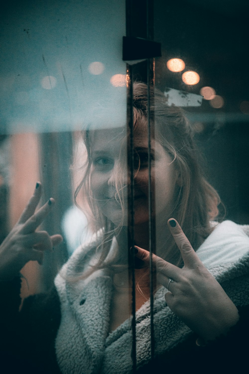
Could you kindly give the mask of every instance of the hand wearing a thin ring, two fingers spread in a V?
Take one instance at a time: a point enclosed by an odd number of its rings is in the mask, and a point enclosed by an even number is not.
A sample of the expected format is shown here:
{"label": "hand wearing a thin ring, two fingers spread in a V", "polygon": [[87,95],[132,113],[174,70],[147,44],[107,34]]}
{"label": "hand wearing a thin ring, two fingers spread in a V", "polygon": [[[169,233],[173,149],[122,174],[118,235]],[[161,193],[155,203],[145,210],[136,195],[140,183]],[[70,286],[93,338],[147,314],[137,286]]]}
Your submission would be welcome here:
{"label": "hand wearing a thin ring, two fingers spread in a V", "polygon": [[[213,340],[227,333],[237,323],[238,310],[200,261],[178,222],[171,218],[168,226],[181,251],[184,267],[180,269],[152,255],[159,282],[165,288],[168,287],[166,303],[192,331],[205,341]],[[137,246],[136,248],[136,257],[149,264],[149,252]]]}

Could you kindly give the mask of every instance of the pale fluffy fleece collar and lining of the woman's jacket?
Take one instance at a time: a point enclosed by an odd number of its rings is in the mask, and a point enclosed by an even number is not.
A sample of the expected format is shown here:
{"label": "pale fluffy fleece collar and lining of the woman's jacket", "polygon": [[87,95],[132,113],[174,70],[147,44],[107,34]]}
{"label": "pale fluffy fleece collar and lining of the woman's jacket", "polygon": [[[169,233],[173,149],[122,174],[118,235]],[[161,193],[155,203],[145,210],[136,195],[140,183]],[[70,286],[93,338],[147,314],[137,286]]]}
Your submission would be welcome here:
{"label": "pale fluffy fleece collar and lining of the woman's jacket", "polygon": [[[230,239],[227,241],[228,233]],[[206,261],[205,266],[237,306],[249,304],[248,234],[249,226],[224,221],[215,225],[212,234],[200,247],[203,263]],[[86,269],[93,261],[100,241],[101,238],[97,238],[85,248],[78,248],[55,279],[62,315],[56,337],[56,356],[63,374],[132,372],[131,319],[109,334],[113,286],[108,270],[96,271],[85,280],[69,280],[75,272]],[[205,256],[205,243],[209,256],[214,256],[214,261],[209,261]],[[113,238],[112,247],[115,245],[117,243]],[[219,250],[223,253],[221,258],[215,255]],[[162,355],[193,334],[165,305],[165,292],[164,287],[159,288],[154,302],[157,355]],[[136,313],[136,349],[139,368],[150,360],[149,301]]]}

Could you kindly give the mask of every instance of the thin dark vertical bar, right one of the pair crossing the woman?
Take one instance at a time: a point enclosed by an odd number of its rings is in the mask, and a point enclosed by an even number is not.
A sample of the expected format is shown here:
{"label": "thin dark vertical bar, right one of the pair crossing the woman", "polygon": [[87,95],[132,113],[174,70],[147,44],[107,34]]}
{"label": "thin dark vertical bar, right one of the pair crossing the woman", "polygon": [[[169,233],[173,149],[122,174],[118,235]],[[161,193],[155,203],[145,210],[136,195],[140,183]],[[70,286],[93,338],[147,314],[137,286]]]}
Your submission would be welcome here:
{"label": "thin dark vertical bar, right one of the pair crossing the woman", "polygon": [[[150,37],[150,29],[149,29],[149,0],[146,1],[146,16],[147,16],[147,39]],[[149,209],[149,251],[150,251],[150,348],[151,348],[151,361],[153,361],[155,356],[155,337],[154,337],[154,296],[153,296],[153,263],[152,263],[152,190],[151,190],[151,126],[150,126],[150,59],[147,59],[147,127],[148,127],[148,174],[149,174],[149,186],[148,186],[148,209]],[[153,191],[154,192],[154,191]],[[155,192],[154,192],[155,193]]]}

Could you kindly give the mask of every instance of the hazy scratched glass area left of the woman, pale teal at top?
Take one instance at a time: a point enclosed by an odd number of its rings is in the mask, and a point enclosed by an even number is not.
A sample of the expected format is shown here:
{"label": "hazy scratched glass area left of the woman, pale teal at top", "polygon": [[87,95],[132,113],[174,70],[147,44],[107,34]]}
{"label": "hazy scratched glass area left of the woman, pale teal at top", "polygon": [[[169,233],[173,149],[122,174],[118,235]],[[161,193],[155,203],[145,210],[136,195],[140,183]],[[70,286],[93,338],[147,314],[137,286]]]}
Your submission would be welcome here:
{"label": "hazy scratched glass area left of the woman, pale teal at top", "polygon": [[87,218],[74,202],[86,159],[82,132],[126,126],[125,1],[15,1],[4,4],[1,25],[1,241],[37,181],[40,205],[56,200],[43,230],[64,239],[43,267],[32,261],[23,269],[27,296],[49,288],[86,239]]}

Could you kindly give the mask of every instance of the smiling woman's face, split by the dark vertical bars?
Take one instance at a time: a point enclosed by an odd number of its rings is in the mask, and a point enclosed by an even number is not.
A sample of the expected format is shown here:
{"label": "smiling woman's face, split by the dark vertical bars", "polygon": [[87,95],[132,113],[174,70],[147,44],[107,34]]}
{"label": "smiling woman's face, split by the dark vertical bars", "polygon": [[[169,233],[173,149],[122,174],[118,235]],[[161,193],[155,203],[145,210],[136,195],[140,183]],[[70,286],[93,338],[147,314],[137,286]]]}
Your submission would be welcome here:
{"label": "smiling woman's face, split by the dark vertical bars", "polygon": [[[128,186],[127,141],[124,129],[96,130],[91,134],[91,190],[93,199],[102,213],[115,225],[127,224]],[[149,173],[148,140],[146,125],[134,129],[134,163],[140,167],[134,177],[134,223],[141,224],[149,220]],[[178,172],[171,157],[162,145],[151,140],[151,186],[152,216],[169,218],[174,206],[174,190]],[[122,189],[124,212],[116,200],[116,184],[119,180]],[[123,221],[124,217],[124,221]]]}

